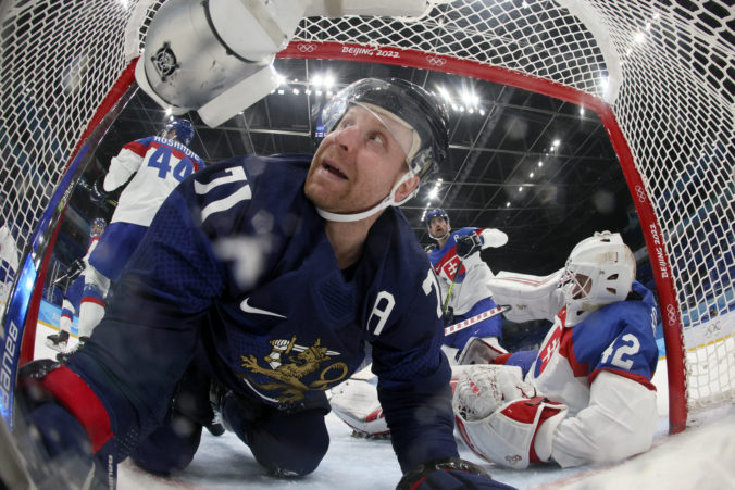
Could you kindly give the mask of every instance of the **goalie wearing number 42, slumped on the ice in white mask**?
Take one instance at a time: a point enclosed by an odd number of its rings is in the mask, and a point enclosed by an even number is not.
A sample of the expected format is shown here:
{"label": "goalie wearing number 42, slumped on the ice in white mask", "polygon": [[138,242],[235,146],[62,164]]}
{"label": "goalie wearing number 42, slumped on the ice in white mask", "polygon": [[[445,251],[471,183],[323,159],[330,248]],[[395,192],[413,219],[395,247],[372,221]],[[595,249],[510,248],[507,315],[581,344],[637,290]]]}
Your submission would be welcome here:
{"label": "goalie wearing number 42, slumped on the ice in white mask", "polygon": [[[658,418],[656,304],[634,280],[635,269],[620,235],[595,234],[566,261],[559,281],[563,305],[540,350],[509,354],[482,339],[468,343],[460,362],[476,365],[456,372],[453,406],[473,451],[525,468],[616,461],[650,448]],[[497,301],[508,294],[519,302],[508,280],[496,282]],[[553,290],[545,296],[535,301],[559,298]]]}

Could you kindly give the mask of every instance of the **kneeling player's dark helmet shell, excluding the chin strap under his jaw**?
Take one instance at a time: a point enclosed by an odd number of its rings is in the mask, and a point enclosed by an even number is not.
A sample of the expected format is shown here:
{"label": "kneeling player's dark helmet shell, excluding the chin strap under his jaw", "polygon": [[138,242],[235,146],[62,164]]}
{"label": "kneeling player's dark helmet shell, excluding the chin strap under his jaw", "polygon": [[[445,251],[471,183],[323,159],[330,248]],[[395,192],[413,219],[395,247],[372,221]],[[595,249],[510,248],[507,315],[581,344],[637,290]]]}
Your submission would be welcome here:
{"label": "kneeling player's dark helmet shell, excluding the chin strap under his jaw", "polygon": [[447,108],[423,87],[400,78],[364,78],[340,90],[322,112],[324,129],[329,133],[351,104],[373,104],[406,121],[418,133],[419,148],[407,155],[410,175],[420,178],[416,189],[401,204],[419,192],[419,188],[437,171],[449,150],[449,115]]}

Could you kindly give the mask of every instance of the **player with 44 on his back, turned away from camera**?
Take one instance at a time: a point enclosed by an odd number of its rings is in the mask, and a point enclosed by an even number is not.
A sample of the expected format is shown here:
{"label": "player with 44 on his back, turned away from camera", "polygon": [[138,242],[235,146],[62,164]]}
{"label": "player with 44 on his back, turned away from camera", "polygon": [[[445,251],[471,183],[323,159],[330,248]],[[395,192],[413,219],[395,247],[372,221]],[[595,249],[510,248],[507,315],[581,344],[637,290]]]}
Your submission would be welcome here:
{"label": "player with 44 on his back, turned away from camera", "polygon": [[[79,343],[83,344],[104,315],[110,282],[120,279],[125,264],[140,243],[155,212],[182,180],[204,167],[188,145],[194,126],[173,120],[159,136],[132,141],[110,162],[103,190],[95,183],[98,199],[128,181],[120,196],[107,233],[89,256],[79,305]],[[130,176],[135,176],[130,179]],[[64,357],[60,357],[63,361]]]}

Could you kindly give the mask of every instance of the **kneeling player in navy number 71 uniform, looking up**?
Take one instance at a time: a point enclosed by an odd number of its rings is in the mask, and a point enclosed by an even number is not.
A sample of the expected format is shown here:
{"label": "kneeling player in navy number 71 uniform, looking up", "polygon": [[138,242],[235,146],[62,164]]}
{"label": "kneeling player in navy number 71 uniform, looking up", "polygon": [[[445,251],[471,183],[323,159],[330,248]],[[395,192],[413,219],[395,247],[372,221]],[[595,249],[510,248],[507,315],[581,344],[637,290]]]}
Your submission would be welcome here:
{"label": "kneeling player in navy number 71 uniform, looking up", "polygon": [[179,469],[212,416],[213,380],[254,458],[307,475],[328,448],[325,391],[371,343],[400,488],[508,488],[458,457],[439,289],[396,208],[446,158],[446,118],[414,84],[363,79],[324,109],[313,158],[235,158],[186,179],[91,338],[36,374],[47,398],[29,418],[46,445],[74,436],[102,468],[130,454]]}

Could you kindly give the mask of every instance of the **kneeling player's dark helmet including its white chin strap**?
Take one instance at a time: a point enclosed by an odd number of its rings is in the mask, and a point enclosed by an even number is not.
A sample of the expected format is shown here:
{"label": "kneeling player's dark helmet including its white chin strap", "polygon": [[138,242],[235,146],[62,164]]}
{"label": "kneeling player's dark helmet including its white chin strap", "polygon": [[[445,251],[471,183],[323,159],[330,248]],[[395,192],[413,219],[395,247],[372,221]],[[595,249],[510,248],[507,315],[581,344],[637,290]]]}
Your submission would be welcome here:
{"label": "kneeling player's dark helmet including its white chin strap", "polygon": [[[389,126],[381,116],[382,113],[404,123],[413,130],[413,141],[410,148],[401,147],[406,153],[409,172],[376,206],[357,214],[337,214],[317,210],[322,217],[335,222],[363,219],[385,208],[403,204],[413,198],[436,172],[438,164],[447,158],[449,149],[447,129],[449,116],[445,104],[415,84],[400,78],[365,78],[348,85],[322,111],[322,122],[327,134],[337,126],[351,105],[360,105],[369,111],[391,135]],[[419,176],[416,188],[400,202],[396,201],[396,190],[413,176]]]}

